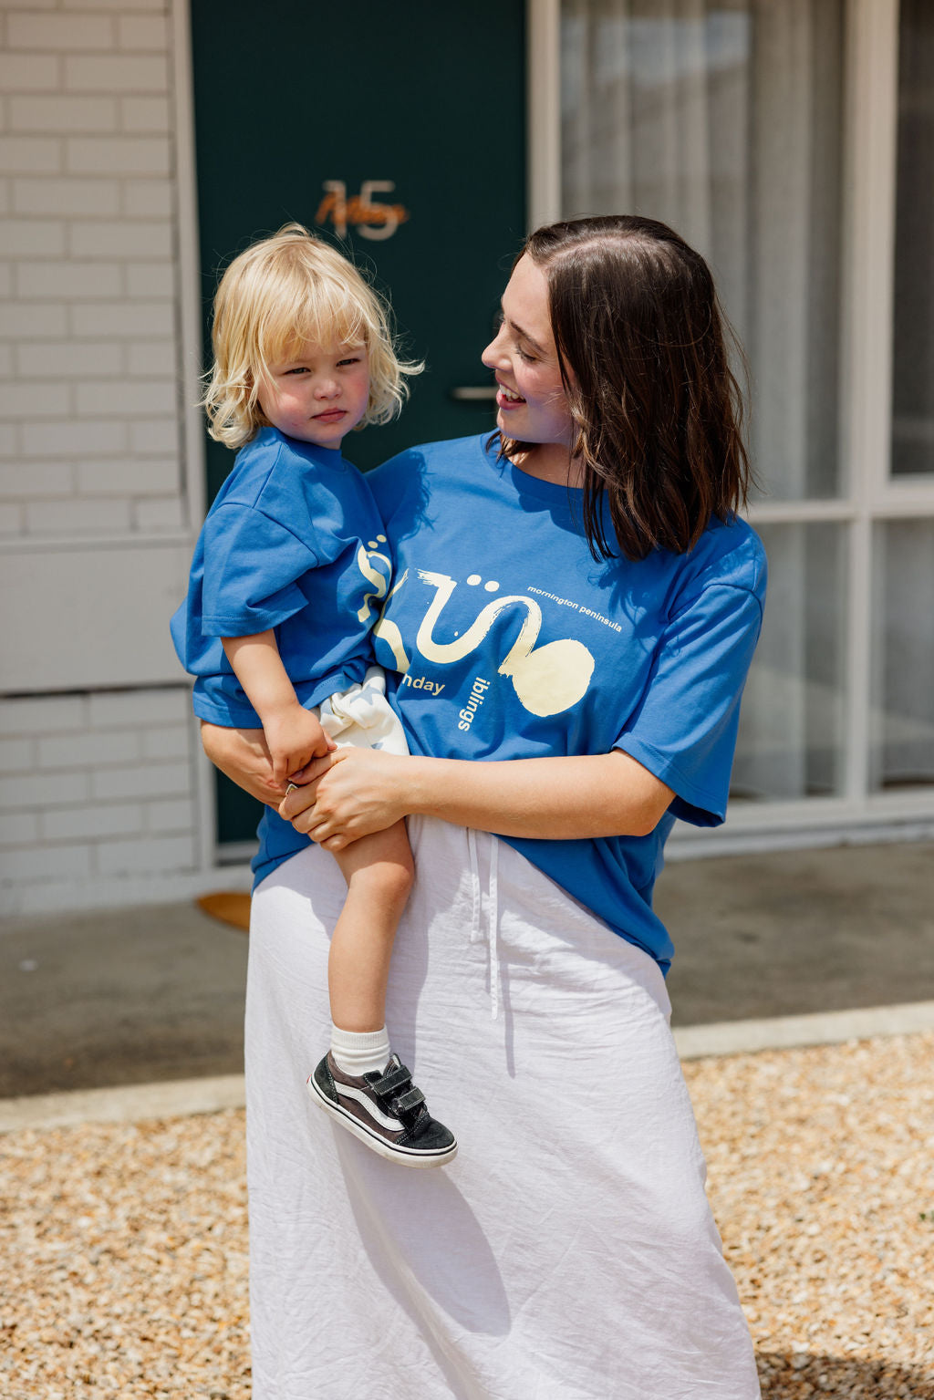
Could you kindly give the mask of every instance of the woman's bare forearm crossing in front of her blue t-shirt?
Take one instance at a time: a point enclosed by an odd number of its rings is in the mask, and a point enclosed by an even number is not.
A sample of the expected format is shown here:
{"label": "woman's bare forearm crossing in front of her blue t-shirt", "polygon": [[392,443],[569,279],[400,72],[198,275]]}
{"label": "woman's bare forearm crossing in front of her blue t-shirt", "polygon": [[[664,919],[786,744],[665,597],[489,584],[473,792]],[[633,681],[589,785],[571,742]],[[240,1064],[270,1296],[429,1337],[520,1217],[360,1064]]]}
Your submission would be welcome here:
{"label": "woman's bare forearm crossing in front of her blue t-shirt", "polygon": [[406,806],[500,836],[647,836],[674,798],[627,753],[472,763],[409,759]]}

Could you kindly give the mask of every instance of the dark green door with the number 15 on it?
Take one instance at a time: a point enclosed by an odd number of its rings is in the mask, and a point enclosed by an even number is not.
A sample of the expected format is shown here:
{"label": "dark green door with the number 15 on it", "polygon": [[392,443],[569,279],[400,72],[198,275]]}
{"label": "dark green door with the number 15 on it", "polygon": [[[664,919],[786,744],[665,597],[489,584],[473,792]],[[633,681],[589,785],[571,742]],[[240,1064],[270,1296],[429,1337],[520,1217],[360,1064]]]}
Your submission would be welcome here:
{"label": "dark green door with the number 15 on it", "polygon": [[[192,48],[206,325],[217,269],[297,220],[372,269],[427,363],[398,423],[346,440],[350,461],[492,426],[471,391],[490,384],[479,353],[525,231],[524,0],[192,0]],[[207,440],[211,498],[231,465]],[[221,780],[221,843],[256,813]]]}

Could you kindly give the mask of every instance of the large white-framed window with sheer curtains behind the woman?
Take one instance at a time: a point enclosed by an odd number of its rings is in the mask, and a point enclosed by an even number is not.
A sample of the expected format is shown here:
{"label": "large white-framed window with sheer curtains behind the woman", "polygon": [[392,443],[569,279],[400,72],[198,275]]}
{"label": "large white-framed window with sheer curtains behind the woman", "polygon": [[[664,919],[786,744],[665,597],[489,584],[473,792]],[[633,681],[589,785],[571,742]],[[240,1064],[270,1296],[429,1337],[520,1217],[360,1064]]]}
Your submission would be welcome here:
{"label": "large white-framed window with sheer curtains behind the woman", "polygon": [[562,217],[675,227],[749,363],[734,829],[934,819],[933,63],[930,0],[560,0]]}

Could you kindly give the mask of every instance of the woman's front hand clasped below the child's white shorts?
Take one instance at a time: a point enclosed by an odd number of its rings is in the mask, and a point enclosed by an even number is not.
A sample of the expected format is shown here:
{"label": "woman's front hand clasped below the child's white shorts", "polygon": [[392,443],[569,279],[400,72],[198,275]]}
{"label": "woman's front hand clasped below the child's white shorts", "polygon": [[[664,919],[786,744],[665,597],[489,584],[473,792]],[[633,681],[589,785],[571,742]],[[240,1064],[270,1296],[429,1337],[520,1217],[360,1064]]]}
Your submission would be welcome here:
{"label": "woman's front hand clasped below the child's white shorts", "polygon": [[379,749],[337,749],[309,764],[279,815],[329,851],[384,832],[406,816],[412,759]]}

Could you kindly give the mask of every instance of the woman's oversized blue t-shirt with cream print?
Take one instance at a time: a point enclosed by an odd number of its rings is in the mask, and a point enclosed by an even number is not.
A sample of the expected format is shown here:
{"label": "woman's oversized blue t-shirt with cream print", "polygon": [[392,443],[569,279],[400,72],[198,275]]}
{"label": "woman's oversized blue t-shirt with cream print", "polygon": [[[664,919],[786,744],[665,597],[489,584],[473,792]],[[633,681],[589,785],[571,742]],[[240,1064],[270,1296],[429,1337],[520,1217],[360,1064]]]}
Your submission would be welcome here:
{"label": "woman's oversized blue t-shirt with cream print", "polygon": [[[675,792],[643,837],[506,837],[662,969],[651,907],[682,818],[723,822],[766,563],[742,521],[686,554],[597,561],[581,493],[497,459],[496,437],[434,442],[370,473],[395,585],[377,661],[412,753],[454,759],[632,755]],[[612,528],[608,525],[608,538]],[[258,879],[305,844],[265,819]]]}

